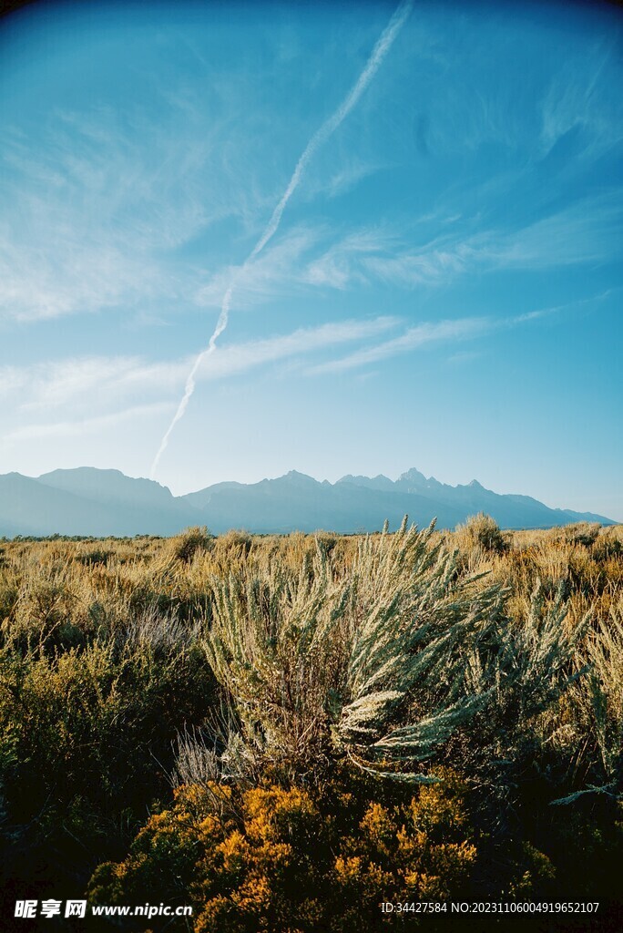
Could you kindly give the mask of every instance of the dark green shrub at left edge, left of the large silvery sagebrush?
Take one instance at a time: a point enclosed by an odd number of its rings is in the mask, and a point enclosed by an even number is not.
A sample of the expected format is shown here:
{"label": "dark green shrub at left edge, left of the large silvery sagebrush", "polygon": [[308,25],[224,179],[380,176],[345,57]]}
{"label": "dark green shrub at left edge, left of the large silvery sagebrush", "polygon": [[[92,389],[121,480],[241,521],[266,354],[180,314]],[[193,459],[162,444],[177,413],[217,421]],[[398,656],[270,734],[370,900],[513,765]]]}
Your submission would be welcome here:
{"label": "dark green shrub at left edge, left of the large silvery sagebrush", "polygon": [[[77,797],[102,815],[166,791],[171,745],[205,717],[214,680],[201,649],[133,638],[52,656],[0,653],[0,732],[12,758],[0,775],[16,824]],[[162,762],[162,763],[159,763]]]}

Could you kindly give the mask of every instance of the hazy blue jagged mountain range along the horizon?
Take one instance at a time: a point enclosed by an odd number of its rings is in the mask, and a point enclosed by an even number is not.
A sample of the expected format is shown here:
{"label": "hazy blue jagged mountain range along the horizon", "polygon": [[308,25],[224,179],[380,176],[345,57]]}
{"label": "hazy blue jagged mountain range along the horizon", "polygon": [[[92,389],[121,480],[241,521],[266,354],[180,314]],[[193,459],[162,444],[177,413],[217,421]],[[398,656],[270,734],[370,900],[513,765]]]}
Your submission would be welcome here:
{"label": "hazy blue jagged mountain range along the horizon", "polygon": [[571,522],[614,524],[602,515],[548,508],[527,495],[500,495],[477,480],[449,486],[417,469],[398,480],[344,476],[319,482],[291,470],[276,480],[219,482],[197,493],[173,496],[153,480],[135,480],[118,470],[54,470],[38,479],[0,476],[0,536],[174,535],[206,524],[215,533],[245,528],[256,533],[378,531],[395,528],[408,514],[426,525],[453,528],[469,515],[487,512],[503,528],[547,528]]}

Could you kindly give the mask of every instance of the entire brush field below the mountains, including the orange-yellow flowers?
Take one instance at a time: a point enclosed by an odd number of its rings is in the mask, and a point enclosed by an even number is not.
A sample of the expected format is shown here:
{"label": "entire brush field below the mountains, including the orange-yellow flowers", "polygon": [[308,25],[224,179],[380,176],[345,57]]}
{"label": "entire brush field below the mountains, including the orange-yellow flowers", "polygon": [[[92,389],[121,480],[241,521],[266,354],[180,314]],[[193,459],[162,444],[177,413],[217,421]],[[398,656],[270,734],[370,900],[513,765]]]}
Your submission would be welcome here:
{"label": "entire brush field below the mountains, including the orange-yellow flowers", "polygon": [[0,625],[5,918],[623,928],[623,526],[4,541]]}

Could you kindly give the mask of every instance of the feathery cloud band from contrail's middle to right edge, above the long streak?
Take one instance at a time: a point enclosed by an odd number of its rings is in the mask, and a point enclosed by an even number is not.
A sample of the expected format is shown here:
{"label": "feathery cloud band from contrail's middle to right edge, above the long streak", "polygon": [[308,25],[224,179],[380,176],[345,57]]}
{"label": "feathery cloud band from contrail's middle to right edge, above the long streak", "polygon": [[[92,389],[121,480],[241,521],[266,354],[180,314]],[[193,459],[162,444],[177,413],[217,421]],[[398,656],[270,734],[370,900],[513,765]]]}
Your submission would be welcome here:
{"label": "feathery cloud band from contrail's middle to right edge, above the long streak", "polygon": [[[446,211],[421,217],[408,230],[360,228],[328,244],[335,237],[329,228],[298,227],[240,272],[237,303],[250,308],[314,288],[436,288],[475,273],[610,261],[620,255],[623,242],[619,202],[617,195],[594,197],[514,229],[477,231],[469,217]],[[427,237],[433,225],[436,232]],[[413,240],[419,244],[408,245]],[[217,305],[232,272],[215,275],[202,287],[199,300]]]}

